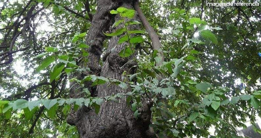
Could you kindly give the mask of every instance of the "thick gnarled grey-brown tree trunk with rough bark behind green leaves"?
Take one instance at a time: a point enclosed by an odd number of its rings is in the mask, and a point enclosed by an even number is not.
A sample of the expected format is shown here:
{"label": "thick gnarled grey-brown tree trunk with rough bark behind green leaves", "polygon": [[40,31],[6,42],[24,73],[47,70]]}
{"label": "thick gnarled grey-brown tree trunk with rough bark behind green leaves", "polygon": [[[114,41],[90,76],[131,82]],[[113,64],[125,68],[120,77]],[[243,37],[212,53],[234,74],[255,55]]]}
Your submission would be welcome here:
{"label": "thick gnarled grey-brown tree trunk with rough bark behind green leaves", "polygon": [[[123,71],[134,73],[135,68],[133,68],[133,66],[136,65],[136,63],[128,62],[133,59],[134,56],[130,56],[128,58],[119,57],[119,52],[127,45],[117,45],[120,36],[110,38],[106,57],[103,58],[103,67],[99,66],[103,41],[106,38],[103,35],[103,32],[108,31],[109,26],[112,25],[115,20],[119,19],[118,15],[113,17],[110,14],[110,10],[115,10],[120,6],[133,8],[133,1],[98,1],[97,12],[93,16],[92,26],[90,27],[87,35],[87,44],[90,46],[88,67],[91,69],[91,73],[122,81],[124,79],[124,76],[122,75]],[[134,18],[138,19],[138,16],[136,15]],[[134,26],[134,28],[138,28],[138,26]],[[133,27],[131,29],[133,29]],[[111,52],[111,49],[114,47],[115,51]],[[123,65],[124,67],[122,67]],[[79,74],[76,74],[75,76],[78,78],[83,78],[83,76]],[[71,89],[71,97],[80,97],[80,95],[77,95],[77,91],[74,91],[77,87],[77,85],[74,85]],[[110,96],[117,93],[126,93],[125,90],[121,90],[117,86],[108,84],[99,85],[97,88],[90,88],[89,84],[87,84],[87,87],[89,90],[92,90],[92,95],[98,97]],[[67,121],[71,125],[76,125],[81,138],[154,137],[155,135],[148,131],[151,114],[150,106],[146,104],[146,102],[144,102],[143,105],[144,106],[141,109],[142,114],[137,120],[134,117],[134,112],[127,106],[126,98],[120,98],[119,103],[103,102],[100,106],[98,115],[95,114],[94,109],[82,107],[76,113],[72,112],[67,118]]]}

